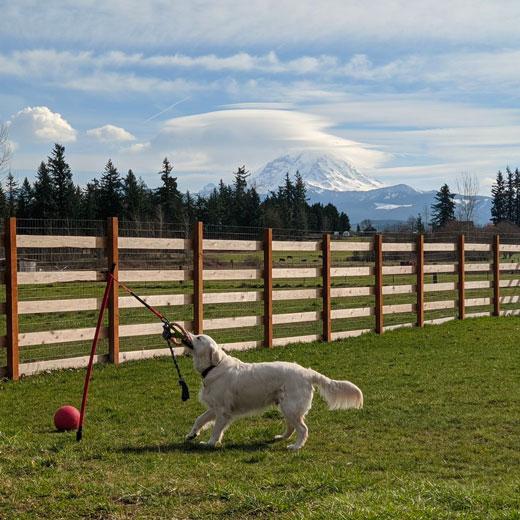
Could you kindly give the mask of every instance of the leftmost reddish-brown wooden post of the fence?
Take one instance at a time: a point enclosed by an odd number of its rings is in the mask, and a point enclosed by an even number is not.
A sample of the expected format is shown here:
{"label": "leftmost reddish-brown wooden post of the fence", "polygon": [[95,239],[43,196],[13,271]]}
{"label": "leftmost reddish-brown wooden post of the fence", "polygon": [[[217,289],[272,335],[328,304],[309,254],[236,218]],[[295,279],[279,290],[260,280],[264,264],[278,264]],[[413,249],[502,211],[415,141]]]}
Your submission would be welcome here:
{"label": "leftmost reddish-brown wooden post of the fence", "polygon": [[5,221],[5,313],[7,333],[7,377],[20,378],[18,348],[18,257],[16,251],[16,218]]}

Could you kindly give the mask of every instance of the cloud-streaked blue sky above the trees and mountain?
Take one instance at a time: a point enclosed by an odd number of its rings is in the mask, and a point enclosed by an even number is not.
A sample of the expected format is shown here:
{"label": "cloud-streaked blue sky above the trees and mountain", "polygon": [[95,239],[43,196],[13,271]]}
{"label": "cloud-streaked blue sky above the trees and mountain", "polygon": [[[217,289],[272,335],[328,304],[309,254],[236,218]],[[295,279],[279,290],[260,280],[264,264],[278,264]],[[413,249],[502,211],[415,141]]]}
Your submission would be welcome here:
{"label": "cloud-streaked blue sky above the trees and mountain", "polygon": [[22,176],[54,142],[182,189],[324,150],[386,184],[520,166],[516,1],[0,0],[0,121]]}

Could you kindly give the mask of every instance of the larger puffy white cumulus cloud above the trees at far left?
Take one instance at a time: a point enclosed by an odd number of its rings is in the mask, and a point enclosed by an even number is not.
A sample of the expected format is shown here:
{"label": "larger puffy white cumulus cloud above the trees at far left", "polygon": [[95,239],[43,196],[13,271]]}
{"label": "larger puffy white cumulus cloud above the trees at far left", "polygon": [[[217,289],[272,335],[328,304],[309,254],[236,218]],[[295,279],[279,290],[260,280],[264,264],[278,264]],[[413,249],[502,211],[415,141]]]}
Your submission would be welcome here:
{"label": "larger puffy white cumulus cloud above the trees at far left", "polygon": [[14,114],[9,124],[9,135],[20,142],[59,142],[76,140],[76,130],[57,112],[48,107],[26,107]]}

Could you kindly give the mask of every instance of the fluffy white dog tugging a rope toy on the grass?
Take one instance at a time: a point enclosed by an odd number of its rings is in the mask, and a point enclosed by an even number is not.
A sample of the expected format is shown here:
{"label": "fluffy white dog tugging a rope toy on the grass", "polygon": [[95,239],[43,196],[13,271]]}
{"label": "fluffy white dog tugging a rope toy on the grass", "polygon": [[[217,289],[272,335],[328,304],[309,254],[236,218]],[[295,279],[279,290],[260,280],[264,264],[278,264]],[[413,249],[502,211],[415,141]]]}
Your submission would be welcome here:
{"label": "fluffy white dog tugging a rope toy on the grass", "polygon": [[361,390],[349,381],[334,381],[296,363],[243,363],[203,334],[189,334],[184,344],[202,375],[200,400],[208,407],[197,417],[186,440],[194,439],[215,423],[208,445],[217,446],[234,419],[276,404],[287,421],[287,429],[275,440],[288,439],[296,430],[296,441],[288,448],[298,450],[307,440],[304,418],[311,409],[314,385],[331,410],[363,407]]}

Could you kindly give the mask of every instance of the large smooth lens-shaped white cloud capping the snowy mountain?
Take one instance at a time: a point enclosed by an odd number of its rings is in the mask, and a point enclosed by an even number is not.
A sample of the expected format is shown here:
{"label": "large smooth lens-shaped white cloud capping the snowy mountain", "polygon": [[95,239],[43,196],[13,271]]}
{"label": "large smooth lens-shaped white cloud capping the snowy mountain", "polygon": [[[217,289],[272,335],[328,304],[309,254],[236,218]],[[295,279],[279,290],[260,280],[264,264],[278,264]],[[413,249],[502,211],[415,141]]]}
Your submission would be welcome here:
{"label": "large smooth lens-shaped white cloud capping the snowy mountain", "polygon": [[204,150],[194,170],[228,172],[239,164],[257,168],[277,154],[291,150],[319,149],[334,152],[359,168],[373,168],[385,154],[375,148],[334,135],[327,119],[289,110],[221,110],[178,117],[165,122],[152,140],[151,150],[196,154]]}

